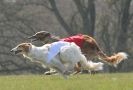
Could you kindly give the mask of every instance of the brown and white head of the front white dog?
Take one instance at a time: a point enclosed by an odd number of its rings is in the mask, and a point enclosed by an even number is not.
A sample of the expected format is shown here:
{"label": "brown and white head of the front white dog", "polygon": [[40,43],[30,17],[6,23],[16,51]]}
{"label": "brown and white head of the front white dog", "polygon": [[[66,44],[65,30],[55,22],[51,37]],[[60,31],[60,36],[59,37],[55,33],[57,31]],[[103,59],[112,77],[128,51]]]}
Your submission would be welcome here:
{"label": "brown and white head of the front white dog", "polygon": [[14,54],[26,54],[29,52],[30,48],[32,47],[31,43],[21,43],[14,47],[11,52]]}

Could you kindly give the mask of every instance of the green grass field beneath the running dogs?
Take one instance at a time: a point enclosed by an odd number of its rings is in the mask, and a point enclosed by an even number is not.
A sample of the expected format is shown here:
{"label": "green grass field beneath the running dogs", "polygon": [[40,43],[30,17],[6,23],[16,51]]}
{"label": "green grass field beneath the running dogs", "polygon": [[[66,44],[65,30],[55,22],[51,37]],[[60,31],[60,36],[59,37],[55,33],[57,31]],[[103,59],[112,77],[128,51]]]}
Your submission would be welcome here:
{"label": "green grass field beneath the running dogs", "polygon": [[0,76],[0,90],[133,90],[133,73]]}

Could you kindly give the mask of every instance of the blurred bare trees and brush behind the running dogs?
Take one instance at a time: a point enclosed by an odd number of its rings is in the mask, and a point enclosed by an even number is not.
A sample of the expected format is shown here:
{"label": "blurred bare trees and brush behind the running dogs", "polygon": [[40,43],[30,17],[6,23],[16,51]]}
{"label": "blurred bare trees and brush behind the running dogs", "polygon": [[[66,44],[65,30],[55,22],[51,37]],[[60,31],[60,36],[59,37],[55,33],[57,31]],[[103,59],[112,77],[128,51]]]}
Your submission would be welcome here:
{"label": "blurred bare trees and brush behind the running dogs", "polygon": [[0,0],[0,74],[45,71],[9,52],[41,30],[60,37],[90,35],[108,55],[129,54],[118,68],[106,65],[105,72],[133,71],[133,0]]}

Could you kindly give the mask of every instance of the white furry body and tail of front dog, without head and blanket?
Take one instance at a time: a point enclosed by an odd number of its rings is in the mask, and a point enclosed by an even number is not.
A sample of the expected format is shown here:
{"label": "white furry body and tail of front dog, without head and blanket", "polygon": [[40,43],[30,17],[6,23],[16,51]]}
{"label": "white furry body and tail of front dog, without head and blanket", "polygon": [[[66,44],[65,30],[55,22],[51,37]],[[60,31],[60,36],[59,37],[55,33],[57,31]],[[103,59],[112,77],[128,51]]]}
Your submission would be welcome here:
{"label": "white furry body and tail of front dog, without head and blanket", "polygon": [[74,66],[77,62],[81,63],[83,69],[94,71],[103,69],[103,63],[87,61],[86,57],[81,53],[80,48],[76,44],[69,42],[67,42],[67,45],[61,47],[59,54],[57,54],[50,62],[47,62],[47,55],[50,47],[51,44],[45,44],[41,47],[32,45],[29,52],[24,54],[24,56],[33,61],[38,60],[47,67],[55,69],[63,76],[70,74],[70,72],[74,70]]}

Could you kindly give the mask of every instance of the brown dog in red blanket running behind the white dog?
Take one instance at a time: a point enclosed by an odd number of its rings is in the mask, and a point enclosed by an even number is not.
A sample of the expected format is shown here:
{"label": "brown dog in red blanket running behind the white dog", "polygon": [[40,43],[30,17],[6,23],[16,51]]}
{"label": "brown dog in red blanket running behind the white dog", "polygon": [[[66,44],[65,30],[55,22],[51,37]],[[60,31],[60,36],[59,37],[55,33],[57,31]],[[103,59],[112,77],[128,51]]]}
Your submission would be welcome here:
{"label": "brown dog in red blanket running behind the white dog", "polygon": [[[80,37],[80,38],[79,38]],[[95,57],[100,58],[101,60],[107,62],[108,64],[117,66],[121,61],[127,59],[127,54],[125,52],[119,52],[117,54],[114,54],[112,56],[107,56],[98,46],[96,40],[88,35],[75,35],[70,36],[67,38],[57,38],[53,35],[51,35],[47,31],[40,31],[36,34],[29,37],[32,41],[42,41],[43,43],[52,43],[55,41],[66,41],[66,42],[74,42],[76,43],[80,48],[83,54],[87,57],[88,60],[92,60]]]}

